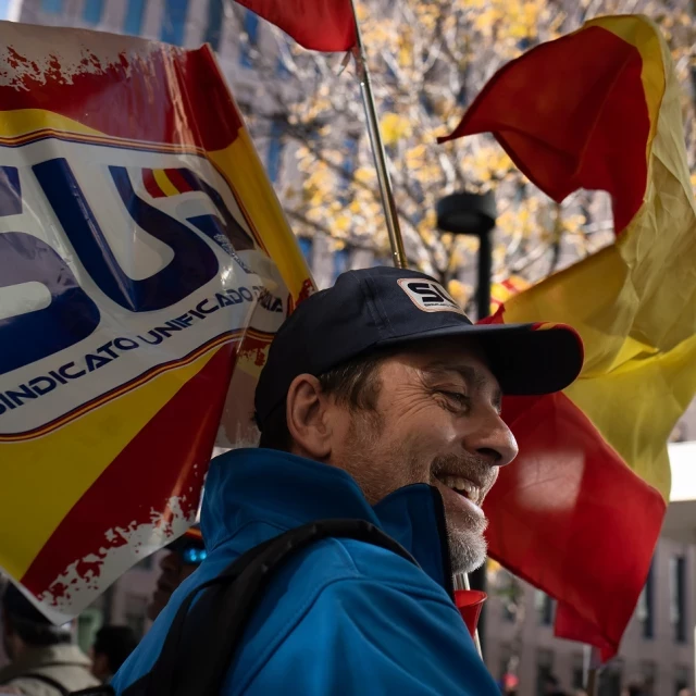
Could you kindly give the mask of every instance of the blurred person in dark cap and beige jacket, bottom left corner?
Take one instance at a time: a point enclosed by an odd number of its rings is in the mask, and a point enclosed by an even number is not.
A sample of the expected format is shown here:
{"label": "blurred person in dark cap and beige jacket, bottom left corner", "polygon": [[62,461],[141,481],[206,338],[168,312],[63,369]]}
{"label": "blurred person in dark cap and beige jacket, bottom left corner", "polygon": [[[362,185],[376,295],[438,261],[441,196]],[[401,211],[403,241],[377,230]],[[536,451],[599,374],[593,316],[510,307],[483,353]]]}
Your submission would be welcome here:
{"label": "blurred person in dark cap and beige jacket, bottom left corner", "polygon": [[2,596],[2,641],[11,663],[0,670],[0,694],[65,696],[99,684],[70,629],[53,625],[14,585]]}

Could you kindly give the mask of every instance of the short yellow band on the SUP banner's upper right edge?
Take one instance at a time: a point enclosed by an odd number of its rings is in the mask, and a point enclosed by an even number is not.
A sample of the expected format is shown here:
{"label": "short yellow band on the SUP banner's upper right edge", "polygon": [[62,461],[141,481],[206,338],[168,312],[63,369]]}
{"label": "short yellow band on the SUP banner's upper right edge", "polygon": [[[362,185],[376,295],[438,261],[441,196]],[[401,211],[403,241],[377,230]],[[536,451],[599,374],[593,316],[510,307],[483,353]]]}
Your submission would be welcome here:
{"label": "short yellow band on the SUP banner's upper right edge", "polygon": [[275,261],[293,298],[297,299],[311,274],[247,129],[240,128],[229,147],[209,152],[208,157],[223,173],[237,200],[244,201],[256,233]]}

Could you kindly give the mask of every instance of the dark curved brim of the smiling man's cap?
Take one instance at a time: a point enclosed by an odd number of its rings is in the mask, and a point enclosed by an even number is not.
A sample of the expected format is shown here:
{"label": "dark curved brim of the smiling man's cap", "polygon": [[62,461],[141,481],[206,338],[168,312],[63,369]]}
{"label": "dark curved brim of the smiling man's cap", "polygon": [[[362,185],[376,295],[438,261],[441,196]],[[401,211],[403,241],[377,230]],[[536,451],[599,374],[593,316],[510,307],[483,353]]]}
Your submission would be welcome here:
{"label": "dark curved brim of the smiling man's cap", "polygon": [[560,391],[576,380],[583,366],[583,341],[566,324],[463,324],[393,337],[380,345],[434,338],[475,338],[508,395]]}

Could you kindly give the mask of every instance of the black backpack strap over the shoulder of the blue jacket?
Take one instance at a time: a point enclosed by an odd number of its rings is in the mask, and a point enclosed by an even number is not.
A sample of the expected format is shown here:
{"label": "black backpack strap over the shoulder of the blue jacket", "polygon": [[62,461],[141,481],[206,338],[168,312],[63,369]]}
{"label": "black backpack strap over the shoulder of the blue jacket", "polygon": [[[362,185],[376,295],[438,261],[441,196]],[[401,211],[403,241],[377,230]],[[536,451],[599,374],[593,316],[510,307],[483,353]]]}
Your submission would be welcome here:
{"label": "black backpack strap over the shoulder of the blue jacket", "polygon": [[274,572],[301,549],[330,537],[373,544],[418,566],[402,546],[365,520],[321,520],[290,530],[194,589],[179,607],[151,672],[123,696],[219,696],[244,629]]}

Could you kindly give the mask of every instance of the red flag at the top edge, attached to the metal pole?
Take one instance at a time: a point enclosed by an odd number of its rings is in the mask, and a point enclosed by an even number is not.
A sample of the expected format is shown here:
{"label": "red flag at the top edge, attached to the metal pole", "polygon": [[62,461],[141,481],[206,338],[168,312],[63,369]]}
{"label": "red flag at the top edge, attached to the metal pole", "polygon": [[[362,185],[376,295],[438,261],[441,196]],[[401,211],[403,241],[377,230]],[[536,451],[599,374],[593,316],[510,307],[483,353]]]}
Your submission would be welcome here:
{"label": "red flag at the top edge, attached to the metal pole", "polygon": [[237,0],[313,51],[348,51],[356,45],[350,0]]}

